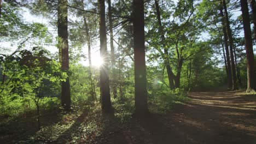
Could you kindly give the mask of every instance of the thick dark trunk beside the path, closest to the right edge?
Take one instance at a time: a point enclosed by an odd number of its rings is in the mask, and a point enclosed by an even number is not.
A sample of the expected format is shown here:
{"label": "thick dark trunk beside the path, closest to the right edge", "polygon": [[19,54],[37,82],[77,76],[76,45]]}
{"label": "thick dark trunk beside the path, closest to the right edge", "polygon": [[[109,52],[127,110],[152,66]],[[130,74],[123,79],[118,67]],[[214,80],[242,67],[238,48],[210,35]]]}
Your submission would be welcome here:
{"label": "thick dark trunk beside the path, closest to the right edge", "polygon": [[243,17],[243,30],[245,32],[246,44],[246,59],[247,59],[247,90],[246,92],[255,91],[255,69],[254,67],[254,54],[252,45],[252,34],[249,20],[249,11],[247,1],[240,0],[242,17]]}

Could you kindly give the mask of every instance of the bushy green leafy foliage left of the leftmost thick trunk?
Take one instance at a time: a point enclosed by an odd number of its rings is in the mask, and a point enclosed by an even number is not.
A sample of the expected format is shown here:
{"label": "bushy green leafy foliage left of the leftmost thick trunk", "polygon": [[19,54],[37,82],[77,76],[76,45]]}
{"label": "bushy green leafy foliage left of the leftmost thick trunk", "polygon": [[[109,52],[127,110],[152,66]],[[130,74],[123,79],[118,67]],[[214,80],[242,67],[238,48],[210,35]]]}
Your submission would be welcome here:
{"label": "bushy green leafy foliage left of the leftmost thick trunk", "polygon": [[[18,115],[35,109],[34,100],[43,99],[43,107],[59,103],[56,89],[67,74],[61,73],[60,64],[47,57],[48,51],[33,47],[32,51],[22,50],[18,56],[3,59],[2,74],[5,80],[0,85],[2,114]],[[45,97],[45,98],[44,98]]]}

